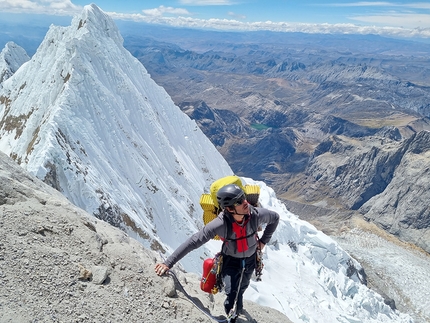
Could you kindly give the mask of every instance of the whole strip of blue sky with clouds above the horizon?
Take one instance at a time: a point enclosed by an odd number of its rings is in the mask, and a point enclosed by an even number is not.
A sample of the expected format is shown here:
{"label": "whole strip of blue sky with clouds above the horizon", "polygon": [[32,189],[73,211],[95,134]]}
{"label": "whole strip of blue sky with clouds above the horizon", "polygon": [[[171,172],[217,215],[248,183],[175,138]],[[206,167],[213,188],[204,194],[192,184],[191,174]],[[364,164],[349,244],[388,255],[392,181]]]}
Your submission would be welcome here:
{"label": "whole strip of blue sky with clouds above the horizon", "polygon": [[[0,0],[0,12],[73,15],[86,0]],[[94,1],[114,19],[224,30],[388,33],[430,38],[430,1]]]}

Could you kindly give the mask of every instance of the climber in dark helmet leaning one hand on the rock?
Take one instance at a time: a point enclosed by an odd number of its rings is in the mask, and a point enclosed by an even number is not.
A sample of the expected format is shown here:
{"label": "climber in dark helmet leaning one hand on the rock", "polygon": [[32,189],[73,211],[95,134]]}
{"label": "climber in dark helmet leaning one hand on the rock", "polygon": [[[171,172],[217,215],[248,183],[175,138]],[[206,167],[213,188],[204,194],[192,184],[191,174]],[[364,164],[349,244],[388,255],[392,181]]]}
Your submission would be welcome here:
{"label": "climber in dark helmet leaning one hand on the rock", "polygon": [[[251,206],[244,191],[235,184],[221,187],[216,197],[223,211],[182,243],[163,263],[156,264],[155,272],[160,276],[165,274],[190,251],[218,235],[223,240],[221,276],[227,295],[224,309],[229,322],[234,323],[243,309],[243,293],[256,266],[257,249],[262,250],[269,242],[278,225],[279,215]],[[266,227],[259,238],[257,228],[261,224],[266,224]]]}

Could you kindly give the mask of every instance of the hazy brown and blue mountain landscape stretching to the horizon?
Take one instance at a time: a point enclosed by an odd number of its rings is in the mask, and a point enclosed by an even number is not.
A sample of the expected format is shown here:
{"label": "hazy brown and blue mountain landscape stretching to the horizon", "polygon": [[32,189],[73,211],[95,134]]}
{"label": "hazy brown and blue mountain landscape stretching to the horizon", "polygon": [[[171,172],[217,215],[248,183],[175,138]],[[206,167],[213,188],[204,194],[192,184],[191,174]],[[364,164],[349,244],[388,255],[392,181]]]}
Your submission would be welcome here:
{"label": "hazy brown and blue mountain landscape stretching to the horizon", "polygon": [[235,173],[266,181],[310,221],[318,214],[306,206],[340,222],[364,216],[430,252],[429,44],[123,30],[126,48]]}

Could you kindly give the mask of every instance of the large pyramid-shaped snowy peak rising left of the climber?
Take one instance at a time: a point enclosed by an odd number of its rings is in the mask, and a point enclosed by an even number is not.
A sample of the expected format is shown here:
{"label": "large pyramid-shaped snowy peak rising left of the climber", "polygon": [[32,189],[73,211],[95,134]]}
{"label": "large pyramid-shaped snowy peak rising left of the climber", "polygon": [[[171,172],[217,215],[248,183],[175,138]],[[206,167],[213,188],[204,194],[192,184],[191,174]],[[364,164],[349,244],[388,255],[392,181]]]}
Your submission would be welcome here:
{"label": "large pyramid-shaped snowy peak rising left of the climber", "polygon": [[0,149],[89,213],[169,250],[200,225],[201,192],[231,170],[121,43],[95,5],[51,26],[0,93]]}

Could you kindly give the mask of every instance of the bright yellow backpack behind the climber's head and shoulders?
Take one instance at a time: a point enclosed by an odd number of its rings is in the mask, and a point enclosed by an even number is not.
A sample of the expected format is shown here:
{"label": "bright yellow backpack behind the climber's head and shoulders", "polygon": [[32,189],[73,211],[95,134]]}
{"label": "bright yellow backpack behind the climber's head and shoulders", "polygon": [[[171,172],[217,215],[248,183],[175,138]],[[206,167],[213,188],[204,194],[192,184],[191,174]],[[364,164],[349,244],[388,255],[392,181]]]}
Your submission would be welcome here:
{"label": "bright yellow backpack behind the climber's head and shoulders", "polygon": [[[260,186],[246,184],[243,186],[242,181],[238,176],[226,176],[222,177],[210,186],[210,194],[203,193],[200,196],[200,206],[203,209],[203,223],[206,225],[213,219],[215,219],[221,212],[221,208],[218,205],[216,194],[221,187],[229,184],[235,184],[239,186],[246,195],[246,200],[253,206],[258,206],[258,198],[260,197]],[[219,237],[214,238],[218,240]]]}

